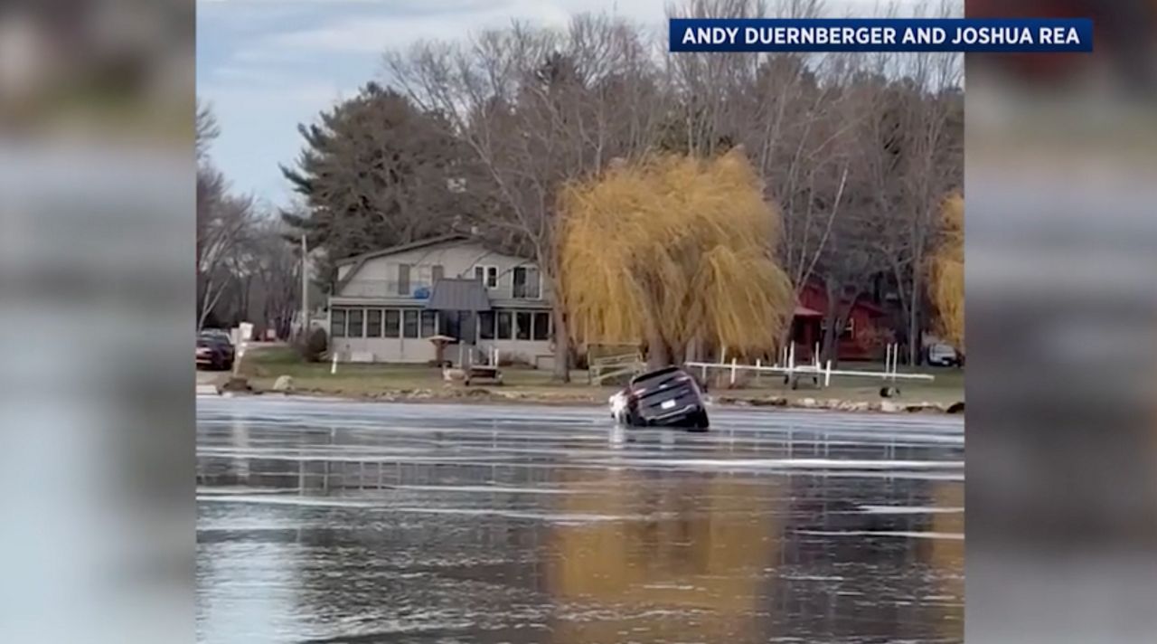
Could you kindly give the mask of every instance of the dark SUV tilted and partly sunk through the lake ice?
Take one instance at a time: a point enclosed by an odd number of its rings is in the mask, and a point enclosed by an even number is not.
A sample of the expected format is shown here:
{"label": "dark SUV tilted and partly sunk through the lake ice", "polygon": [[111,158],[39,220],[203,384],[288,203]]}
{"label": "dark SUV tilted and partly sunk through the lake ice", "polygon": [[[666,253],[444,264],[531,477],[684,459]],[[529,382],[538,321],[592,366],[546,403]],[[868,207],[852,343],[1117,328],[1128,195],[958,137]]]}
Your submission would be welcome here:
{"label": "dark SUV tilted and partly sunk through the lake ice", "polygon": [[707,408],[695,379],[679,367],[636,375],[611,396],[611,416],[628,427],[707,431]]}

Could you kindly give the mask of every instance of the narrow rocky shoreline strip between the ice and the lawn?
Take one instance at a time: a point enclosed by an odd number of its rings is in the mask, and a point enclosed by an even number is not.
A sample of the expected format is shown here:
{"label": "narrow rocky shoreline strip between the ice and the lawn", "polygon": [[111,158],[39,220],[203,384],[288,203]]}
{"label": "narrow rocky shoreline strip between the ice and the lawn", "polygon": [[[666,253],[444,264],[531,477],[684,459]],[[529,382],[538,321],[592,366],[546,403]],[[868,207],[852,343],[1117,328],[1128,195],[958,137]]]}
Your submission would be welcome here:
{"label": "narrow rocky shoreline strip between the ice and the lawn", "polygon": [[[358,402],[401,402],[401,403],[458,403],[458,404],[524,404],[543,407],[604,407],[606,400],[587,391],[519,391],[516,389],[492,388],[443,388],[443,389],[382,389],[379,391],[342,391],[341,389],[322,389],[294,387],[287,390],[253,387],[249,381],[238,379],[214,386],[216,395],[234,396],[302,396],[317,398],[340,398]],[[213,395],[198,387],[198,395]],[[937,403],[928,401],[899,401],[882,398],[878,401],[852,401],[824,397],[788,397],[778,395],[750,395],[725,391],[708,394],[708,404],[727,409],[813,409],[857,414],[936,414],[963,415],[964,401]]]}

